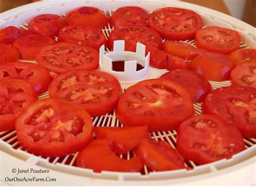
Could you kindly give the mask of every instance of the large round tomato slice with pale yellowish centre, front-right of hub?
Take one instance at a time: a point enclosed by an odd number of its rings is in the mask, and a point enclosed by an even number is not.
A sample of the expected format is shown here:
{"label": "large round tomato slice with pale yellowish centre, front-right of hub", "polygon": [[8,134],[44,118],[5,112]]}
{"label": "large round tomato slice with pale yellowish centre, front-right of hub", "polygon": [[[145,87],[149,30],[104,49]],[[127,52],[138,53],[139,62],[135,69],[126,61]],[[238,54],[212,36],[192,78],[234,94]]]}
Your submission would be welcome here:
{"label": "large round tomato slice with pale yellowish centre, front-right of hub", "polygon": [[164,79],[139,82],[120,97],[116,116],[124,126],[146,125],[149,131],[177,129],[181,121],[194,115],[187,90]]}

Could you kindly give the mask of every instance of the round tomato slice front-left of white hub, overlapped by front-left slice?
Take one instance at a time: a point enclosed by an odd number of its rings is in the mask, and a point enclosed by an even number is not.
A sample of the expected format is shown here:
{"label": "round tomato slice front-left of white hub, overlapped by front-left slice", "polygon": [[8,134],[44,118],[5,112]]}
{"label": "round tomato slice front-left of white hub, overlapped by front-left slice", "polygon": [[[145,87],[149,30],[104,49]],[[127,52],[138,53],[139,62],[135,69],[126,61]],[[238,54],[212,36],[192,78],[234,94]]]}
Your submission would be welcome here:
{"label": "round tomato slice front-left of white hub, overlapped by front-left slice", "polygon": [[52,98],[65,99],[96,117],[114,110],[121,86],[116,77],[102,71],[72,70],[57,76],[49,93]]}

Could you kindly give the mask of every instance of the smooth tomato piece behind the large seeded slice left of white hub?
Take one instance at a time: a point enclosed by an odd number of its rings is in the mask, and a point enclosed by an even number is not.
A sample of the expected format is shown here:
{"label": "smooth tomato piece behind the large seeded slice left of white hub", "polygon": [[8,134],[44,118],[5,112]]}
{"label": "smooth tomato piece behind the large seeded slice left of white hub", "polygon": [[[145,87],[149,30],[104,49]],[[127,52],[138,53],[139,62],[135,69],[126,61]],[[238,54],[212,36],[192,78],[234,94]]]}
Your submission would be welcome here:
{"label": "smooth tomato piece behind the large seeded slice left of white hub", "polygon": [[36,53],[44,46],[55,44],[56,41],[47,35],[29,35],[15,40],[11,46],[21,52],[21,59],[35,60]]}

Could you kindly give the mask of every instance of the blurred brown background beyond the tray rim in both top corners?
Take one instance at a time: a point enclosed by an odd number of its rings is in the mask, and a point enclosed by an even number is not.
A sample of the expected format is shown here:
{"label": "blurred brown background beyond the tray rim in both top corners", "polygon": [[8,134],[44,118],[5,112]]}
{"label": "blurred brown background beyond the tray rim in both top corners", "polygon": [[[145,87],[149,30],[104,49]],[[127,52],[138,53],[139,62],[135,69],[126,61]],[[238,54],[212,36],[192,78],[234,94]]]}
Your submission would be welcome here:
{"label": "blurred brown background beyond the tray rim in both top corners", "polygon": [[[0,12],[38,0],[0,0]],[[57,0],[56,0],[57,1]],[[181,0],[214,9],[256,27],[256,0]]]}

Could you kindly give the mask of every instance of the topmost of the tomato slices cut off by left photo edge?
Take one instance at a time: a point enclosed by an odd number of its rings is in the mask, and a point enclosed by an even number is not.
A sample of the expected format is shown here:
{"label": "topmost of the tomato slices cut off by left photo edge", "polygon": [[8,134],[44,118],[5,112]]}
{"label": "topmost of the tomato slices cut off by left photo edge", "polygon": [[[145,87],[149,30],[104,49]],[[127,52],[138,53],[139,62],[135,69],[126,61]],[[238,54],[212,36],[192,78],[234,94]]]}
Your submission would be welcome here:
{"label": "topmost of the tomato slices cut off by left photo edge", "polygon": [[0,31],[0,43],[9,45],[18,38],[26,37],[28,35],[33,35],[33,34],[35,33],[31,31],[19,29],[14,26],[9,26]]}

